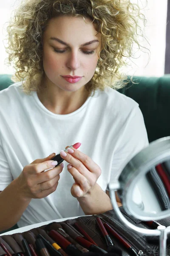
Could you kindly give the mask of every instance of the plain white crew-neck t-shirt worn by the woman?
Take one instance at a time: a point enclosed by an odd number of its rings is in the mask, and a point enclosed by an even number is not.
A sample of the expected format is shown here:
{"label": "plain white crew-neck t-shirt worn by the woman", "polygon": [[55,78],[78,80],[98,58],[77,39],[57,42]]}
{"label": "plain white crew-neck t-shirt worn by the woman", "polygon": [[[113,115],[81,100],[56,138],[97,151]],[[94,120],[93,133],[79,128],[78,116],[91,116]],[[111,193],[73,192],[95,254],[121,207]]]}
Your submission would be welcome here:
{"label": "plain white crew-neck t-shirt worn by the woman", "polygon": [[[24,93],[21,82],[0,91],[0,191],[20,175],[24,166],[77,142],[82,143],[79,150],[100,166],[102,174],[97,183],[105,191],[126,163],[148,145],[139,105],[106,88],[96,90],[77,111],[59,115],[48,111],[36,92]],[[63,163],[56,191],[46,198],[32,199],[19,227],[84,215],[70,192],[74,179],[68,173],[68,163]]]}

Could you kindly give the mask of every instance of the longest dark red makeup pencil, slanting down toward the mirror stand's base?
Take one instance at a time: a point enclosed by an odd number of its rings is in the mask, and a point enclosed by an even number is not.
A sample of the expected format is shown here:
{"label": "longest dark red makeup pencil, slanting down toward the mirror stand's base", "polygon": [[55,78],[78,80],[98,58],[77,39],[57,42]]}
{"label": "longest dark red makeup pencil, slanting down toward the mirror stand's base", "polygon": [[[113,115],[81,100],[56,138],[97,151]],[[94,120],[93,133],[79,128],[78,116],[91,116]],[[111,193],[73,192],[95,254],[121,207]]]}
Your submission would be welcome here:
{"label": "longest dark red makeup pencil, slanting down toward the mirror stand's base", "polygon": [[128,252],[130,253],[130,255],[132,256],[139,256],[138,253],[136,253],[136,250],[134,250],[130,244],[128,244],[123,238],[122,236],[120,236],[115,230],[113,230],[113,228],[108,224],[108,223],[104,223],[103,224],[104,227],[114,236],[116,237],[128,250]]}

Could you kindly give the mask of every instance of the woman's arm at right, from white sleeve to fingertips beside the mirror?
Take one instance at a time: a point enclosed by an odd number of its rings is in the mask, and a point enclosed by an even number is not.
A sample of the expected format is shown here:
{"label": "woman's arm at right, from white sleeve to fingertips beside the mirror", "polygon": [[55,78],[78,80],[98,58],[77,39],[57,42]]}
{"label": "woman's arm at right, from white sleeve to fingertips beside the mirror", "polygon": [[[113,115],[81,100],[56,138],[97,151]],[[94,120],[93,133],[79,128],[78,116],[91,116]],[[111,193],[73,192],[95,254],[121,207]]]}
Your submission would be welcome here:
{"label": "woman's arm at right, from white sleeve to fingertips beside the mirror", "polygon": [[[116,180],[126,163],[148,145],[143,116],[138,106],[133,109],[121,128],[122,136],[116,145],[109,183]],[[71,187],[71,194],[77,198],[85,214],[97,214],[113,209],[108,192],[105,193],[96,183],[101,174],[99,166],[77,149],[73,149],[72,152],[69,150],[65,156],[61,155],[61,157],[69,163],[68,172],[75,180]],[[122,206],[117,193],[116,200],[118,206]]]}

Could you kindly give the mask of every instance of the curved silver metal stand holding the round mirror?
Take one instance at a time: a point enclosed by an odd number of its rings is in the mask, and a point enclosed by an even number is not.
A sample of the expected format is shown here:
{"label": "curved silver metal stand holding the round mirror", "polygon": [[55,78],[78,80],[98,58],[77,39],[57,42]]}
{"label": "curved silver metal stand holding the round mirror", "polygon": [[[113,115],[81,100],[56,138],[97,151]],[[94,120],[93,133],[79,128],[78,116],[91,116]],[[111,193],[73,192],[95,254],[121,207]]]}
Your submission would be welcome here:
{"label": "curved silver metal stand holding the round mirror", "polygon": [[[117,184],[118,185],[118,184]],[[118,185],[119,186],[119,185]],[[116,195],[115,192],[119,187],[109,186],[109,192],[111,197],[111,202],[113,205],[113,209],[116,212],[117,217],[120,221],[123,222],[127,227],[136,232],[142,233],[145,236],[159,236],[159,256],[166,256],[166,244],[167,244],[167,234],[170,233],[170,227],[165,227],[163,225],[159,226],[156,230],[145,230],[144,228],[136,227],[122,215],[122,212],[119,210],[119,207],[116,202]]]}

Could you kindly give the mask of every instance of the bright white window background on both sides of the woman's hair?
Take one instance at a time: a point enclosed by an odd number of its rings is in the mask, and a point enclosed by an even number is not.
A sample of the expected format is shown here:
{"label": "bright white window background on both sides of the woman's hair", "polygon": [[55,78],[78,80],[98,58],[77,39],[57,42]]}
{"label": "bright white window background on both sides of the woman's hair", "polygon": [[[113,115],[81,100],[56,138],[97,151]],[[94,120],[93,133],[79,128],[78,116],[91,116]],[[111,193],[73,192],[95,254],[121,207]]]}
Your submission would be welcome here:
{"label": "bright white window background on both sides of the woman's hair", "polygon": [[[138,0],[133,0],[136,3]],[[13,73],[12,67],[7,67],[4,64],[7,54],[3,45],[3,39],[6,35],[5,24],[11,11],[17,6],[20,0],[5,0],[0,3],[0,74]],[[144,7],[146,0],[139,1],[139,5]],[[164,75],[164,60],[165,60],[165,38],[166,38],[166,18],[167,18],[167,0],[148,0],[147,7],[143,11],[146,19],[147,26],[145,27],[145,35],[150,43],[150,46],[146,42],[142,44],[150,49],[150,61],[148,62],[147,53],[138,52],[137,59],[132,59],[131,67],[124,67],[123,72],[129,75],[135,76],[163,76]],[[147,65],[147,66],[146,66]]]}

